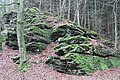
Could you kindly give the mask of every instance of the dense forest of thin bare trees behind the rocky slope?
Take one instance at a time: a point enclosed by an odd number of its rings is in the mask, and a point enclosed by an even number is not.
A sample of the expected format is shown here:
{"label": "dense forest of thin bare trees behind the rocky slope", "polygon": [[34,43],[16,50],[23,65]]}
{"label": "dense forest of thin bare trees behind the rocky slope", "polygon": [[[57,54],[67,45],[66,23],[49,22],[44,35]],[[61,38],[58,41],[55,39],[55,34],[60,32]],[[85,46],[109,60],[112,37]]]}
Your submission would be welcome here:
{"label": "dense forest of thin bare trees behind the rocky slope", "polygon": [[[60,18],[76,22],[79,26],[98,32],[100,36],[115,42],[115,48],[119,48],[120,44],[119,3],[119,0],[24,1],[25,7],[37,7],[41,11],[52,13]],[[16,8],[14,0],[1,0],[1,15]]]}

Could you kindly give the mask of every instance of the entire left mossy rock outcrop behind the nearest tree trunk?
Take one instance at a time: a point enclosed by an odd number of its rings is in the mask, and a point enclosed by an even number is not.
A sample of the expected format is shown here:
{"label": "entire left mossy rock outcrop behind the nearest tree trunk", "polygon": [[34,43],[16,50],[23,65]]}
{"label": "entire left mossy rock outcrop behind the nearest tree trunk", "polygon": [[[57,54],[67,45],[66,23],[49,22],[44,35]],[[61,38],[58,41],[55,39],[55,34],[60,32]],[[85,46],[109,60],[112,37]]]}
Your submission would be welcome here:
{"label": "entire left mossy rock outcrop behind the nearest tree trunk", "polygon": [[[5,15],[14,16],[12,13]],[[52,28],[48,25],[45,18],[39,14],[39,9],[26,8],[24,13],[24,37],[26,50],[28,53],[41,53],[51,42]],[[9,22],[11,22],[13,19],[16,19],[16,17],[11,16]],[[4,20],[7,19],[5,16],[3,16],[3,18]],[[6,22],[7,21],[8,20],[6,20]],[[7,22],[8,25],[12,24],[14,26],[8,29],[6,44],[10,48],[18,50],[16,22],[9,22]]]}

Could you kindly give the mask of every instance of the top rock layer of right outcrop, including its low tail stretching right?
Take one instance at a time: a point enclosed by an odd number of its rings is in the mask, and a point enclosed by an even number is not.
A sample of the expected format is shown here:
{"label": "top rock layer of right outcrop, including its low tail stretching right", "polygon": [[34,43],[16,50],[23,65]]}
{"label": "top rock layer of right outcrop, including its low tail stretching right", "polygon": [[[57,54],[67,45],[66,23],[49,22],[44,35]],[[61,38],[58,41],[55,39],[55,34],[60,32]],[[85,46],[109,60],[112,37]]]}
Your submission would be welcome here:
{"label": "top rock layer of right outcrop, including its low tail stretching right", "polygon": [[99,35],[94,31],[89,31],[81,27],[78,27],[77,25],[74,25],[72,23],[68,23],[54,29],[51,35],[51,39],[53,41],[56,41],[60,37],[78,36],[78,35],[86,38],[95,38],[95,39],[99,38]]}

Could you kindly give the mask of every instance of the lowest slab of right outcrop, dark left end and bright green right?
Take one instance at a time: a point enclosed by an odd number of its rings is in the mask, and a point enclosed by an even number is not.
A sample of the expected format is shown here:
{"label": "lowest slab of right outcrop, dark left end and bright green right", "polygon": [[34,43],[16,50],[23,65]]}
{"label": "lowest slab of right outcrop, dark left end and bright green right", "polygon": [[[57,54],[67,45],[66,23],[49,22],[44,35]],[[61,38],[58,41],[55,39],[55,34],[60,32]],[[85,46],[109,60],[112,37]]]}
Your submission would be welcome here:
{"label": "lowest slab of right outcrop, dark left end and bright green right", "polygon": [[[108,68],[119,67],[120,59],[113,57],[103,58],[93,55],[69,53],[69,56],[66,56],[65,58],[51,57],[47,59],[46,63],[53,69],[65,74],[90,75],[96,70],[105,70]],[[67,67],[65,68],[65,66]],[[76,73],[70,69],[75,70]]]}

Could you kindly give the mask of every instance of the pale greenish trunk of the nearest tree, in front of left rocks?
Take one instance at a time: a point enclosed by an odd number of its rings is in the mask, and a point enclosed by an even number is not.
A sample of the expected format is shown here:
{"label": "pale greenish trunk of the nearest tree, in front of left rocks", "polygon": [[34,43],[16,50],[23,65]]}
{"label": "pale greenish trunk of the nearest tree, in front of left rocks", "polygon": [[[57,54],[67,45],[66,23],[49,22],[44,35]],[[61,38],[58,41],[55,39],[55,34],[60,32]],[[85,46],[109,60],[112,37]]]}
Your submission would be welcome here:
{"label": "pale greenish trunk of the nearest tree, in front of left rocks", "polygon": [[27,60],[26,57],[26,46],[25,46],[25,40],[24,40],[24,22],[23,22],[23,1],[19,0],[18,5],[18,13],[17,13],[17,40],[18,40],[18,46],[19,46],[19,54],[20,54],[20,69],[24,63],[24,61]]}

